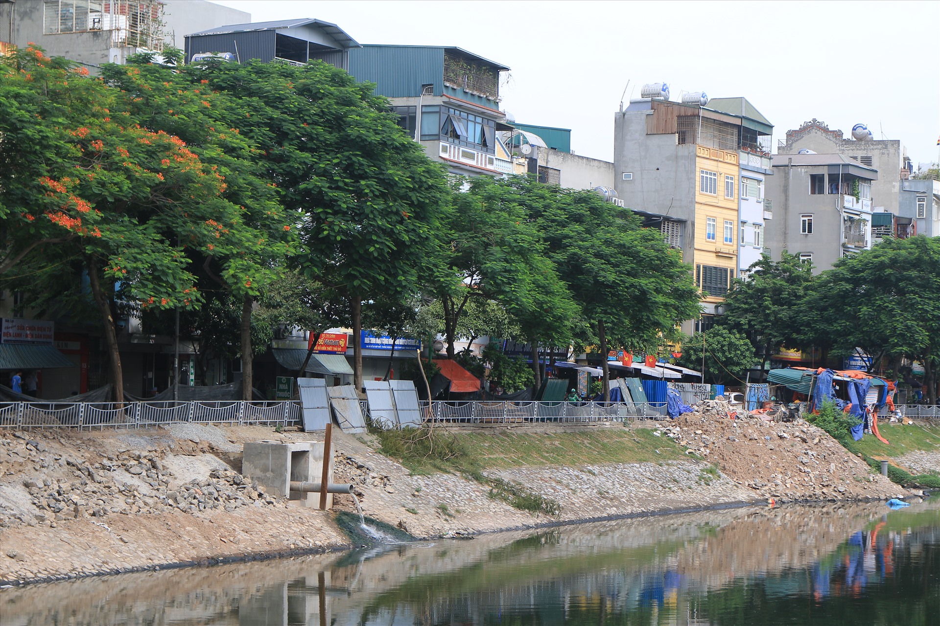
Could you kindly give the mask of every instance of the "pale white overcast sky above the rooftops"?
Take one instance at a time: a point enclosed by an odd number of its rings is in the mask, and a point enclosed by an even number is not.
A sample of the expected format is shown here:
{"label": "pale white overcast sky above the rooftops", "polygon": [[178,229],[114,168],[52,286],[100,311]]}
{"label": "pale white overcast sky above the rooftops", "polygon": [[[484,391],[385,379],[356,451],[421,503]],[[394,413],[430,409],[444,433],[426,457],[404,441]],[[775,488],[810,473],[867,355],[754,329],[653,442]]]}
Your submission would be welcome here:
{"label": "pale white overcast sky above the rooftops", "polygon": [[[614,112],[645,83],[744,96],[774,145],[813,117],[900,139],[938,160],[940,2],[351,2],[214,0],[252,22],[317,18],[359,43],[457,46],[504,72],[516,121],[572,129],[572,150],[614,156]],[[508,75],[507,75],[508,74]],[[884,133],[884,137],[883,137]]]}

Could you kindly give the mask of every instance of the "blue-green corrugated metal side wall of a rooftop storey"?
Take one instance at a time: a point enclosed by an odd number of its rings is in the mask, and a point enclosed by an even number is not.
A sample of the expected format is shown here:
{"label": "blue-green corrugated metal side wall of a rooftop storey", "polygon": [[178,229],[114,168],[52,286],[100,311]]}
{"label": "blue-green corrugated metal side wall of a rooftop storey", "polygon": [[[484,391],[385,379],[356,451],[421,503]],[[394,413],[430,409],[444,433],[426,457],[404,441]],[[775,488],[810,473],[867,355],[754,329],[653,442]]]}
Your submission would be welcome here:
{"label": "blue-green corrugated metal side wall of a rooftop storey", "polygon": [[433,84],[434,95],[444,90],[444,48],[373,46],[349,51],[349,73],[355,80],[375,84],[386,98],[417,97],[422,84]]}

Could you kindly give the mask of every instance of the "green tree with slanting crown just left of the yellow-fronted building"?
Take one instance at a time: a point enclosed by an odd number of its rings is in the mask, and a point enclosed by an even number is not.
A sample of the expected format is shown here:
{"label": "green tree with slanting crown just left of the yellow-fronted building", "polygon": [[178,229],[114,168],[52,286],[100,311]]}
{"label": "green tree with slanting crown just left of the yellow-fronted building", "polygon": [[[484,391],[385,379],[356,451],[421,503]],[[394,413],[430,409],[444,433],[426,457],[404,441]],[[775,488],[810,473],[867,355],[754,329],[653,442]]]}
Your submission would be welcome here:
{"label": "green tree with slanting crown just left of the yellow-fronted building", "polygon": [[[601,354],[610,344],[643,349],[678,337],[682,320],[696,317],[698,291],[690,268],[670,250],[659,231],[643,228],[630,209],[590,191],[572,191],[532,180],[520,182],[558,268]],[[604,389],[610,379],[602,360]],[[604,391],[609,401],[609,391]]]}

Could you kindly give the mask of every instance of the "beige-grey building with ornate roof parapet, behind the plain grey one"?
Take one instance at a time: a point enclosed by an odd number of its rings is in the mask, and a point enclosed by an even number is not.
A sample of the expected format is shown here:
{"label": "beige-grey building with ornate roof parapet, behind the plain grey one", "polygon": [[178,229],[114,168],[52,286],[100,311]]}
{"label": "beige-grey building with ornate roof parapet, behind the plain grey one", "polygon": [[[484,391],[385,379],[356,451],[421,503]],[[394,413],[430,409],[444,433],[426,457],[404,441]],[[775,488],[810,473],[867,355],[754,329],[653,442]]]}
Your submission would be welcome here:
{"label": "beige-grey building with ornate roof parapet, behind the plain grey one", "polygon": [[898,215],[901,181],[907,180],[912,173],[906,148],[898,140],[872,139],[863,124],[856,124],[852,134],[860,139],[845,139],[841,130],[830,130],[826,124],[813,118],[796,130],[787,130],[786,140],[777,142],[776,151],[780,155],[798,154],[801,150],[840,154],[874,168],[878,179],[871,183],[872,210]]}

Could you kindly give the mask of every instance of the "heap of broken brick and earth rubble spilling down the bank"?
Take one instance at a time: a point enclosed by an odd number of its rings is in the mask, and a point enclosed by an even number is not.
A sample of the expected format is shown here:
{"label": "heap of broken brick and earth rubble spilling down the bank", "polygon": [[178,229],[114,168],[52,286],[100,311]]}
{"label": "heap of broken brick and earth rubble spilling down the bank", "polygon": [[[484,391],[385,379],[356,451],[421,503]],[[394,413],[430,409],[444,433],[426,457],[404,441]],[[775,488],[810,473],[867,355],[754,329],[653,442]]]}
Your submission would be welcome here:
{"label": "heap of broken brick and earth rubble spilling down the bank", "polygon": [[901,488],[871,470],[823,429],[798,417],[752,416],[719,396],[661,421],[654,431],[689,455],[715,464],[734,481],[778,502],[899,496]]}

